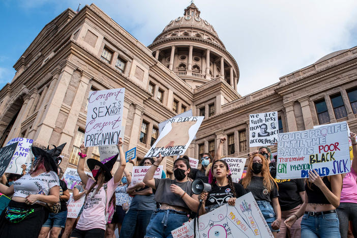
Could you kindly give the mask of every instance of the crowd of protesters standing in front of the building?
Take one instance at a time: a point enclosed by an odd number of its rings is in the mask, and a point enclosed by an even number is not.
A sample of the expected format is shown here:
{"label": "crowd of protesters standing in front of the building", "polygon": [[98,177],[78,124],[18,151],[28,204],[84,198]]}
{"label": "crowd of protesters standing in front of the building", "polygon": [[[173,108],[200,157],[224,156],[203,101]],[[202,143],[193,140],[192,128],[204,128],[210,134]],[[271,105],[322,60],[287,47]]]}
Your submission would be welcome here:
{"label": "crowd of protesters standing in front of the building", "polygon": [[[355,134],[350,133],[353,158],[357,157]],[[150,166],[142,182],[132,184],[126,168],[123,141],[119,153],[102,161],[86,159],[80,146],[77,172],[81,182],[73,199],[84,203],[77,218],[67,218],[69,189],[58,166],[58,150],[32,147],[34,160],[29,172],[2,177],[0,192],[11,201],[0,216],[1,237],[172,237],[171,231],[195,216],[251,192],[274,237],[357,237],[357,160],[351,171],[320,177],[309,171],[308,179],[276,179],[276,161],[269,147],[249,153],[246,175],[234,183],[229,165],[221,160],[225,137],[215,155],[201,156],[199,169],[189,158],[173,162],[174,179],[154,178],[163,158],[144,158],[138,166]],[[111,171],[120,161],[116,171]],[[92,172],[84,172],[85,162]],[[134,164],[130,160],[131,163]],[[211,191],[196,195],[192,181],[210,183]],[[201,202],[201,204],[200,204]]]}

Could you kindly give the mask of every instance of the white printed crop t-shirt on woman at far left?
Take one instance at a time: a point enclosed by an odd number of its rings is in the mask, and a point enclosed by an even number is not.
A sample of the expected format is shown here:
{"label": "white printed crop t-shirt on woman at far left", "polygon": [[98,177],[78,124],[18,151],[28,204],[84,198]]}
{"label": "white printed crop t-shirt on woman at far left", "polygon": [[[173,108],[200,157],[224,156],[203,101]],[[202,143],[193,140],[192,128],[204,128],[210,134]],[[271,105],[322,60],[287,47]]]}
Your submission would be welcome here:
{"label": "white printed crop t-shirt on woman at far left", "polygon": [[58,176],[53,171],[41,173],[36,177],[32,177],[29,173],[26,173],[14,182],[13,197],[25,198],[31,194],[38,194],[40,191],[48,195],[49,189],[53,186],[59,186]]}

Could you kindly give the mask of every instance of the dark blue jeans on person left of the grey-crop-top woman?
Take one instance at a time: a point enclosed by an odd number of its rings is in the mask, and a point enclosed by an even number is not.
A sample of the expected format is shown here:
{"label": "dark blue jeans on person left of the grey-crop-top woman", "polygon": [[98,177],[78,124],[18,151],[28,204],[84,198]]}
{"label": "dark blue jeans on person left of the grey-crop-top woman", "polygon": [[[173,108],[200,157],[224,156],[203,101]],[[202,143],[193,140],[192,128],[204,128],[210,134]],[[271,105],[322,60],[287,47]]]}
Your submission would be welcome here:
{"label": "dark blue jeans on person left of the grey-crop-top woman", "polygon": [[153,210],[129,209],[125,215],[119,238],[143,238]]}

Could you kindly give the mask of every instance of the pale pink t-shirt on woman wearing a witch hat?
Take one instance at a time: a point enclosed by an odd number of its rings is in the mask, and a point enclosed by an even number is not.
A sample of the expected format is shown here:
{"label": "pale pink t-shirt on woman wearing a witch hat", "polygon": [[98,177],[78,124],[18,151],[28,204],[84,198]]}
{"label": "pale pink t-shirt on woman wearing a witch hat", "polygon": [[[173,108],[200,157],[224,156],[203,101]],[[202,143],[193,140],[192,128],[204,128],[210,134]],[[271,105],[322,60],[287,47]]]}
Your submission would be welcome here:
{"label": "pale pink t-shirt on woman wearing a witch hat", "polygon": [[[95,183],[94,180],[88,179],[85,189],[89,190]],[[111,196],[113,195],[115,188],[119,183],[114,184],[113,178],[107,183],[107,196],[105,196],[104,187],[101,187],[98,193],[95,194],[96,188],[94,187],[86,198],[83,207],[83,212],[80,215],[76,228],[79,230],[90,229],[103,229],[105,230],[105,208],[108,206]]]}

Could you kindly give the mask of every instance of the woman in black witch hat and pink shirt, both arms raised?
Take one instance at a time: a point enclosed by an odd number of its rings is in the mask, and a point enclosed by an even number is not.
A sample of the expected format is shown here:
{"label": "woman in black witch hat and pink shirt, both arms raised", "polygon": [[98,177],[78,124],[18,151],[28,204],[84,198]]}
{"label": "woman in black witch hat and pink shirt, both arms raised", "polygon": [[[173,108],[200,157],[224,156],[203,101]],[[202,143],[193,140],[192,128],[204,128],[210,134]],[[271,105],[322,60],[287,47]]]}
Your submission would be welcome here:
{"label": "woman in black witch hat and pink shirt, both arms raised", "polygon": [[105,235],[106,223],[109,219],[108,206],[113,200],[115,188],[122,179],[123,171],[126,166],[124,151],[122,148],[122,138],[118,139],[117,147],[120,156],[120,165],[111,175],[111,169],[118,157],[109,157],[103,161],[88,159],[88,168],[92,171],[95,180],[87,177],[84,172],[84,161],[86,155],[84,143],[80,145],[81,152],[78,153],[77,172],[80,179],[88,190],[85,197],[83,212],[80,215],[76,228],[72,231],[71,237],[103,237]]}

